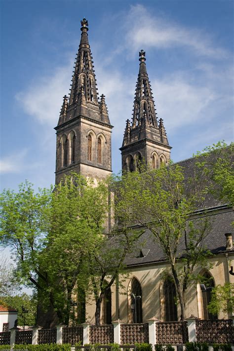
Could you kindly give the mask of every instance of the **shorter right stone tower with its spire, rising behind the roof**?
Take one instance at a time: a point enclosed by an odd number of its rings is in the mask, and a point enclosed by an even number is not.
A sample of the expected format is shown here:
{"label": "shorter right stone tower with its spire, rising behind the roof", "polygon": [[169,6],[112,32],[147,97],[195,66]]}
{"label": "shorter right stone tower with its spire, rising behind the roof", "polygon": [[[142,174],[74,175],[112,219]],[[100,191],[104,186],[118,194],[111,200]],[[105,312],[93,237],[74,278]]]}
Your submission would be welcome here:
{"label": "shorter right stone tower with its spire, rising behind the roof", "polygon": [[122,170],[133,171],[138,161],[157,168],[168,162],[170,149],[163,120],[157,122],[151,84],[146,71],[145,52],[139,52],[140,68],[136,84],[132,123],[126,121],[121,150]]}

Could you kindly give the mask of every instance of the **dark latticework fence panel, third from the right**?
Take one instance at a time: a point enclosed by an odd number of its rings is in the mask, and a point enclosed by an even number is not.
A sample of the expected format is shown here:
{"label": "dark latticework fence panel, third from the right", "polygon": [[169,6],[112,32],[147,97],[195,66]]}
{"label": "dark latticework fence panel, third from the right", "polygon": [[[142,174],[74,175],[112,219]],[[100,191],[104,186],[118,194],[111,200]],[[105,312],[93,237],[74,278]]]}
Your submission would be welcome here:
{"label": "dark latticework fence panel, third from the right", "polygon": [[120,339],[121,344],[149,343],[148,324],[121,324]]}

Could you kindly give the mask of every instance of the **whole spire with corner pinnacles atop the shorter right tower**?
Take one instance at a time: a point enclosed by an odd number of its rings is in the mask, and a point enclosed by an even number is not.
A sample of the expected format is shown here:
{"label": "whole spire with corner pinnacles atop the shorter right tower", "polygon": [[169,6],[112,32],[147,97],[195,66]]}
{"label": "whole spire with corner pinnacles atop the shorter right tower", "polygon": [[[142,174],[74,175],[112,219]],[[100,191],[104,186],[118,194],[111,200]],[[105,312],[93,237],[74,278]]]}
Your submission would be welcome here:
{"label": "whole spire with corner pinnacles atop the shorter right tower", "polygon": [[132,123],[127,119],[122,147],[145,138],[169,145],[163,120],[160,118],[159,123],[157,121],[155,102],[146,70],[146,53],[143,50],[139,52],[139,61]]}

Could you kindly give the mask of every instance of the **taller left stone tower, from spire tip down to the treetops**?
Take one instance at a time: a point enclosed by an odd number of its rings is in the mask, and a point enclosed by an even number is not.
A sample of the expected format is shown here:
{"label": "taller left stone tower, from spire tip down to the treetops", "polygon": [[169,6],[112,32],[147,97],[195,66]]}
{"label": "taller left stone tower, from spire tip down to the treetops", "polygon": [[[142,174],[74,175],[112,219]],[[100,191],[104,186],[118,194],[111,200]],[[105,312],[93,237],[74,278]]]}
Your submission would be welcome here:
{"label": "taller left stone tower, from spire tip down to the treetops", "polygon": [[74,66],[70,97],[63,98],[57,127],[56,177],[76,171],[94,182],[112,172],[111,129],[105,96],[99,101],[88,22],[81,21],[81,39]]}

